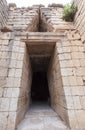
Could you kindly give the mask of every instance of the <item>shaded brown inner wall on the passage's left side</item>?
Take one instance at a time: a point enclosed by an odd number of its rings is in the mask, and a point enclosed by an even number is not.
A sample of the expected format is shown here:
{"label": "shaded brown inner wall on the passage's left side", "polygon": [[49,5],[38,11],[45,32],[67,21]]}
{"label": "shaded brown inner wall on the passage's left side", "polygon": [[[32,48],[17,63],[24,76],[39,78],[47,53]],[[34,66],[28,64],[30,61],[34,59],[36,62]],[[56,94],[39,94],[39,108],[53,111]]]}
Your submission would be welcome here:
{"label": "shaded brown inner wall on the passage's left side", "polygon": [[32,82],[32,69],[31,63],[28,55],[28,50],[25,45],[24,52],[24,60],[23,62],[17,61],[17,66],[22,66],[22,76],[21,76],[21,84],[20,84],[20,94],[18,99],[18,111],[17,111],[17,120],[16,125],[20,123],[23,119],[25,113],[29,109],[30,105],[30,90],[31,90],[31,82]]}

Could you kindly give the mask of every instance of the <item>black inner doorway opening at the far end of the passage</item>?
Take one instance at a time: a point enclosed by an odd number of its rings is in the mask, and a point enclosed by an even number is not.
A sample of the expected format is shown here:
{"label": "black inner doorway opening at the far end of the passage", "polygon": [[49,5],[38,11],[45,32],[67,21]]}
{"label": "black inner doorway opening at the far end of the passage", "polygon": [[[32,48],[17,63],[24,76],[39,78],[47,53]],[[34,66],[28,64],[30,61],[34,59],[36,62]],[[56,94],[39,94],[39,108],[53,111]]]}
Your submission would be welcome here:
{"label": "black inner doorway opening at the far end of the passage", "polygon": [[46,72],[34,72],[31,87],[32,102],[49,102],[49,89]]}

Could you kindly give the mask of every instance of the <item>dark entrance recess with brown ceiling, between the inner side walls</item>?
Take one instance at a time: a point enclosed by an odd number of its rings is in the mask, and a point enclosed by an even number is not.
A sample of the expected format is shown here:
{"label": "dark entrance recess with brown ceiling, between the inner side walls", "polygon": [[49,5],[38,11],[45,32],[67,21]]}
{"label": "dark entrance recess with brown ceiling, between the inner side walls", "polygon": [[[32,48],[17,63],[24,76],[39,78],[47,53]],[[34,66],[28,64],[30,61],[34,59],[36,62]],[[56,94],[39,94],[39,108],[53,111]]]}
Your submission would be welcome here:
{"label": "dark entrance recess with brown ceiling, between the inner side walls", "polygon": [[55,43],[29,43],[27,45],[32,68],[30,104],[40,102],[50,105],[47,74],[54,47]]}

